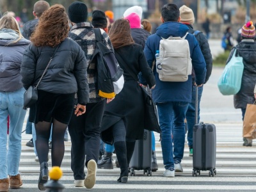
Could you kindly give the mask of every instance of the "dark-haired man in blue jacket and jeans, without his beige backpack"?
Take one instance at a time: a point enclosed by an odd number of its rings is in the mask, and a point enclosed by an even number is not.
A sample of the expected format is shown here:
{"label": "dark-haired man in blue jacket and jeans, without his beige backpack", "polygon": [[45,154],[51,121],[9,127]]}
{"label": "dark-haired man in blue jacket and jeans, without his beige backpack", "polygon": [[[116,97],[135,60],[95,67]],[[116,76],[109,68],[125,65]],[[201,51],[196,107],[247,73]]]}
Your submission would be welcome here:
{"label": "dark-haired man in blue jacket and jeans, without his beige backpack", "polygon": [[[148,65],[152,67],[156,59],[156,51],[159,50],[159,42],[169,36],[184,36],[189,28],[180,23],[180,12],[176,4],[166,4],[161,8],[161,20],[163,24],[156,29],[156,34],[150,35],[147,39],[144,53]],[[195,70],[195,83],[202,86],[205,82],[205,60],[196,38],[192,34],[186,36],[189,43],[190,57]],[[184,47],[186,49],[186,47]],[[161,147],[163,152],[164,177],[175,177],[175,172],[183,172],[180,164],[184,154],[185,124],[184,119],[188,104],[191,102],[192,77],[188,76],[185,82],[161,81],[154,67],[156,88],[152,90],[152,97],[157,104],[159,125],[161,127]],[[141,80],[141,83],[143,80]],[[174,115],[174,116],[173,116]],[[172,148],[171,123],[174,120],[174,132]]]}

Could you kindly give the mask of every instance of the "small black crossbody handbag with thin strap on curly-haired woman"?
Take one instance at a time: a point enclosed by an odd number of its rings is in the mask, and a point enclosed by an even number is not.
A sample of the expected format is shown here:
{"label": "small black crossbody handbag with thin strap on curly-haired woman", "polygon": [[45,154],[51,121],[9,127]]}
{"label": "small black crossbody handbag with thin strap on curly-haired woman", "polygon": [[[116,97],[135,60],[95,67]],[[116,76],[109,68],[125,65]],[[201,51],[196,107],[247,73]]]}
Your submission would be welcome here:
{"label": "small black crossbody handbag with thin strap on curly-haired woman", "polygon": [[[60,44],[58,45],[58,47],[60,47]],[[24,93],[23,109],[28,109],[31,106],[33,106],[33,104],[36,103],[36,100],[38,99],[38,93],[37,93],[38,84],[41,82],[42,78],[44,77],[44,74],[45,74],[47,68],[49,67],[52,59],[54,58],[54,54],[56,53],[58,47],[55,49],[54,53],[52,54],[51,59],[50,59],[49,63],[47,64],[47,66],[46,66],[40,80],[36,84],[36,86],[33,86],[33,85],[29,86],[28,90],[26,90],[26,92]]]}

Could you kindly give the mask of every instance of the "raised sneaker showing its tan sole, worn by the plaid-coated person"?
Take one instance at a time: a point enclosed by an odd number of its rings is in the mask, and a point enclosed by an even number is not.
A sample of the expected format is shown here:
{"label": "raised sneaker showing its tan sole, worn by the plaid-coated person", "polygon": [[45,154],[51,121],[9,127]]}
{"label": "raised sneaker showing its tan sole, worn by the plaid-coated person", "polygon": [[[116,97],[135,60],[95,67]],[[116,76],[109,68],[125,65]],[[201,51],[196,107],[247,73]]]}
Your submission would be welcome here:
{"label": "raised sneaker showing its tan sole, worn by the plaid-coated person", "polygon": [[92,189],[96,183],[96,171],[97,171],[97,163],[91,159],[87,163],[87,174],[84,179],[84,186],[87,189]]}

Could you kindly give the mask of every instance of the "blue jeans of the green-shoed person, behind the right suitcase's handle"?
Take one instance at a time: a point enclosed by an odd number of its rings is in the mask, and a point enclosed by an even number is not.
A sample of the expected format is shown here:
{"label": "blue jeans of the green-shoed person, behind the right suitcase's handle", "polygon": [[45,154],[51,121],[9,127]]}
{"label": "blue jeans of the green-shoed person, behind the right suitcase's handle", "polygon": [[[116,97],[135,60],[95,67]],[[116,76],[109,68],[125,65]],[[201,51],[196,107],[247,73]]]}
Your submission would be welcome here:
{"label": "blue jeans of the green-shoed person, behind the right suitcase's handle", "polygon": [[[198,123],[200,120],[200,100],[202,97],[203,86],[198,87]],[[195,103],[196,103],[196,86],[192,88],[192,101],[188,104],[186,120],[188,125],[188,147],[193,148],[193,127],[195,125]]]}

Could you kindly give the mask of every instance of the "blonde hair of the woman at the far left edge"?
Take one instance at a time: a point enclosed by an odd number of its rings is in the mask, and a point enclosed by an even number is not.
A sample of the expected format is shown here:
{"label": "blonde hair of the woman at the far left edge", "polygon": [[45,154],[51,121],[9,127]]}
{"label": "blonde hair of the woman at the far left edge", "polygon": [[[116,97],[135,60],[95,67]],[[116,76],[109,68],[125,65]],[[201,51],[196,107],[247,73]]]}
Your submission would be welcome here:
{"label": "blonde hair of the woman at the far left edge", "polygon": [[0,29],[3,29],[3,28],[12,29],[13,31],[16,31],[19,34],[19,38],[11,42],[11,44],[15,44],[16,42],[19,42],[19,40],[23,37],[20,32],[20,28],[17,20],[14,17],[8,15],[8,13],[4,13],[3,17],[1,17],[0,19]]}

